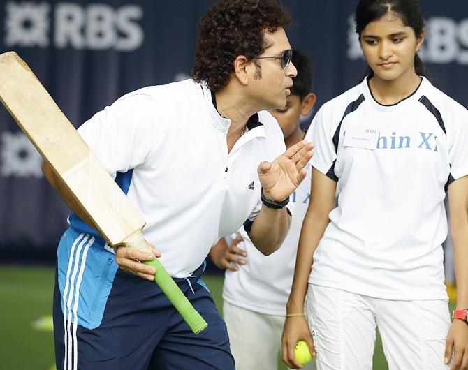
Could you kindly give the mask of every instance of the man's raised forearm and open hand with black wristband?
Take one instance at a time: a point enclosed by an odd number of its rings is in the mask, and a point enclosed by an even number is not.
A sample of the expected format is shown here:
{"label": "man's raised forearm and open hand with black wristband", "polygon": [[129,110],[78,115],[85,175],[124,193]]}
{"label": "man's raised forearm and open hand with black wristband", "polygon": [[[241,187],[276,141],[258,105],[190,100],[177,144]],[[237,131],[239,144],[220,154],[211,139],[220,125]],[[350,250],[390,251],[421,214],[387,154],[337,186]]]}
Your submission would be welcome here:
{"label": "man's raised forearm and open hand with black wristband", "polygon": [[251,225],[249,237],[265,255],[276,251],[288,233],[291,216],[282,205],[305,178],[305,165],[312,158],[312,149],[310,142],[302,140],[275,161],[258,166],[263,205]]}

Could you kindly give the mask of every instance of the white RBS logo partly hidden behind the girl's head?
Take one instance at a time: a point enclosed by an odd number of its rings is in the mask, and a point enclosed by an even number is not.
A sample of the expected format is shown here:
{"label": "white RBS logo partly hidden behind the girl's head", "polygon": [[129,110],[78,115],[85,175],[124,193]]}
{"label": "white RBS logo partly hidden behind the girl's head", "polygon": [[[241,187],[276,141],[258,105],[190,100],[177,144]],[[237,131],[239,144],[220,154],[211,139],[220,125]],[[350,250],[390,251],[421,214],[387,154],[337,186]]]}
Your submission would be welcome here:
{"label": "white RBS logo partly hidden behind the girl's head", "polygon": [[[468,19],[455,22],[448,17],[430,17],[426,21],[426,37],[421,59],[434,64],[468,64]],[[348,29],[349,59],[363,58],[352,17]]]}

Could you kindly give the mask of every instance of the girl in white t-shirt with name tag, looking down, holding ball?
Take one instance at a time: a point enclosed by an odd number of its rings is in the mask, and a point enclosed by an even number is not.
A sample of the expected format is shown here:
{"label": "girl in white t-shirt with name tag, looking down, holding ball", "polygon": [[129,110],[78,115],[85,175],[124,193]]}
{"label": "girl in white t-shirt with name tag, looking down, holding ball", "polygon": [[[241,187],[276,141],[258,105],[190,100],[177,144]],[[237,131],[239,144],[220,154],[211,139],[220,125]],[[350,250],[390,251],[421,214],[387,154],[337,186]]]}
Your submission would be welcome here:
{"label": "girl in white t-shirt with name tag, looking down, holding ball", "polygon": [[372,369],[379,327],[390,369],[468,369],[468,112],[423,77],[418,0],[360,0],[355,20],[369,73],[312,123],[311,201],[283,359],[300,368],[294,346],[304,339],[318,369]]}

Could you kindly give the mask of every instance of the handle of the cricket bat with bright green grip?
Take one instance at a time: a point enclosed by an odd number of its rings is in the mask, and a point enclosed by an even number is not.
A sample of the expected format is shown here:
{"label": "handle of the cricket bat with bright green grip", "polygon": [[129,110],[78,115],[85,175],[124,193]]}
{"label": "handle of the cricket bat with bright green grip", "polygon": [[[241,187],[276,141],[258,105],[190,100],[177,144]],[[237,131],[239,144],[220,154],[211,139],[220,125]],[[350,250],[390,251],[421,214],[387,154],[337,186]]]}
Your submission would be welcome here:
{"label": "handle of the cricket bat with bright green grip", "polygon": [[[126,246],[132,249],[149,249],[149,244],[142,235],[133,237]],[[177,286],[173,278],[168,274],[166,269],[163,267],[161,262],[157,258],[152,261],[145,261],[145,265],[156,267],[156,275],[154,275],[154,281],[158,284],[159,288],[168,297],[170,302],[173,304],[175,309],[179,311],[182,318],[189,325],[190,329],[194,334],[200,334],[208,326],[205,319],[193,308],[189,299],[185,297],[182,290]]]}

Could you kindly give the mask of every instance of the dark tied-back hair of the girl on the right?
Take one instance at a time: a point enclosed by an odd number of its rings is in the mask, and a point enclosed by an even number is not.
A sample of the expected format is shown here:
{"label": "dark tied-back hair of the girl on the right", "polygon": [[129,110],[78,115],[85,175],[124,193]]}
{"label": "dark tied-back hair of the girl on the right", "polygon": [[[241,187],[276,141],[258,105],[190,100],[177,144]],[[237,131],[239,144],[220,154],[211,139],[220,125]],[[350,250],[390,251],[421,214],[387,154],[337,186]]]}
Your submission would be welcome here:
{"label": "dark tied-back hair of the girl on the right", "polygon": [[[398,15],[405,26],[413,29],[416,38],[423,35],[424,19],[418,0],[359,0],[354,15],[356,34],[359,35],[359,40],[367,24],[378,20],[388,13]],[[419,76],[427,75],[423,61],[421,61],[418,54],[414,55],[414,70]],[[368,68],[367,75],[372,77],[374,71]]]}

